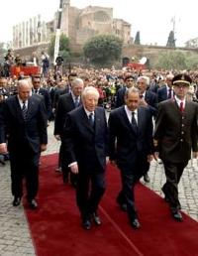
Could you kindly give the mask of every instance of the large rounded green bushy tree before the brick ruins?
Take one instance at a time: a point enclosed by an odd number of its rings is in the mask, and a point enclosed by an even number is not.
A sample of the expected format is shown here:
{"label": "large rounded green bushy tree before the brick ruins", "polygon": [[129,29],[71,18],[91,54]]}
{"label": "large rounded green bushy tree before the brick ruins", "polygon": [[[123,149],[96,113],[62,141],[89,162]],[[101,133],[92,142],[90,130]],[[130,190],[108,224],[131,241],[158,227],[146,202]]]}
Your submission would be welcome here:
{"label": "large rounded green bushy tree before the brick ruins", "polygon": [[121,56],[123,42],[114,35],[97,35],[89,39],[84,47],[85,58],[93,62],[118,60]]}

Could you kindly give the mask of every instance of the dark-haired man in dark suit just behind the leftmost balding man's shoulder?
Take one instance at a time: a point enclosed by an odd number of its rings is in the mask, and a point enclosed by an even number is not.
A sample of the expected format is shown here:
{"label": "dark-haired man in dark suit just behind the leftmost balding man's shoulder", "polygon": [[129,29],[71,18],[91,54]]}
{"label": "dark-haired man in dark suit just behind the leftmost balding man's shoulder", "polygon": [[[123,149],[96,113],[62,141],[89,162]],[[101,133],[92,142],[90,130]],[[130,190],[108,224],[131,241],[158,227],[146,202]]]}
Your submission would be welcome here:
{"label": "dark-haired man in dark suit just behind the leftmost balding man's shoulder", "polygon": [[49,90],[41,87],[41,76],[39,74],[35,74],[32,77],[32,82],[33,82],[33,92],[36,94],[41,94],[44,97],[44,102],[45,102],[46,111],[47,111],[48,125],[49,125],[49,120],[50,120],[51,111],[52,111]]}

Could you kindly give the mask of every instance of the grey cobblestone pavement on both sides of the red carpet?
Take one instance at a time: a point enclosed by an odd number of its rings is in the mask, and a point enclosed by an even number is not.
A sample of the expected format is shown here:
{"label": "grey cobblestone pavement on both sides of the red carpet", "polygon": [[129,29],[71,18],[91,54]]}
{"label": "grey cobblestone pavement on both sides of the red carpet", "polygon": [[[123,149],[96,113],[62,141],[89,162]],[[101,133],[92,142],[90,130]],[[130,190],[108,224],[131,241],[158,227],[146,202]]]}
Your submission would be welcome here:
{"label": "grey cobblestone pavement on both sides of the red carpet", "polygon": [[[52,135],[53,122],[49,124],[49,145],[43,155],[56,153],[59,142]],[[149,170],[152,191],[162,195],[164,183],[163,165],[154,160]],[[144,181],[142,181],[144,183]],[[179,198],[182,210],[198,221],[198,162],[191,160],[179,184]],[[29,226],[23,205],[12,206],[13,196],[10,189],[10,167],[0,165],[0,256],[35,256]],[[50,256],[50,255],[49,255]],[[52,256],[52,255],[51,255]]]}

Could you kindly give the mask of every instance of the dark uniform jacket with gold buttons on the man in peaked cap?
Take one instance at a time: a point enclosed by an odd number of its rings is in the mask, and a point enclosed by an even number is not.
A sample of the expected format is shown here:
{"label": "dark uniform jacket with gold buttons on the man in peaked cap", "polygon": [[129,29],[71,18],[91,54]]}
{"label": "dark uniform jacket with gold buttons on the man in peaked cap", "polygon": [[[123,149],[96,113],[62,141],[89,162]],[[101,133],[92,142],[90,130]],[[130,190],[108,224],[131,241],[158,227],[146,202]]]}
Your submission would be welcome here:
{"label": "dark uniform jacket with gold buttons on the man in peaked cap", "polygon": [[168,99],[158,105],[154,127],[154,151],[166,162],[184,162],[197,152],[198,104],[185,102],[181,113],[176,100]]}

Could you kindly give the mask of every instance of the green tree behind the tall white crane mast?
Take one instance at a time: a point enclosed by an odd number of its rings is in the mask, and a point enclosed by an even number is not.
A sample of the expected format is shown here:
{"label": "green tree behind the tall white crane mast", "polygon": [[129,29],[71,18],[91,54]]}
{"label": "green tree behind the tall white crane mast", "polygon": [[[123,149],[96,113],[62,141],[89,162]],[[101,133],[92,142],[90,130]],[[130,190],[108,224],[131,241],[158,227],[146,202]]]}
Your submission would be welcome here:
{"label": "green tree behind the tall white crane mast", "polygon": [[[53,58],[54,56],[54,45],[55,45],[55,35],[52,35],[49,42],[48,53],[49,57]],[[69,58],[69,39],[61,34],[59,36],[59,53],[61,54],[64,61]]]}

